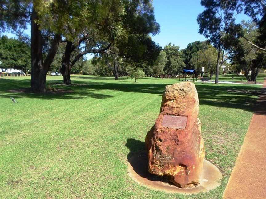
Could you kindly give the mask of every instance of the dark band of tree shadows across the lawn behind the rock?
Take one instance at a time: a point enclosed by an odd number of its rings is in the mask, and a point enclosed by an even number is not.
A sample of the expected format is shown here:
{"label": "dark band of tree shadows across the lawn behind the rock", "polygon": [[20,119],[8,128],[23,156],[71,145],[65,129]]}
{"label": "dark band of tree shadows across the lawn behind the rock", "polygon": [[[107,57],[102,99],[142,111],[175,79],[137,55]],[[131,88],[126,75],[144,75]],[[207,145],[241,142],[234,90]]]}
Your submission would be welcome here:
{"label": "dark band of tree shadows across the lawn behind the rock", "polygon": [[[79,79],[97,79],[107,80],[113,79],[113,77],[75,77]],[[126,78],[124,79],[126,80]],[[2,97],[9,98],[10,95],[14,98],[39,98],[39,99],[82,99],[82,98],[95,98],[106,99],[114,97],[112,95],[105,95],[99,92],[99,90],[113,90],[132,93],[149,93],[162,95],[165,86],[169,84],[142,84],[142,83],[126,83],[125,81],[104,82],[104,81],[72,81],[75,85],[66,86],[62,85],[61,80],[47,80],[47,84],[56,84],[57,89],[71,90],[72,92],[64,94],[37,94],[37,93],[11,93],[8,90],[16,90],[19,88],[28,88],[30,80],[17,80],[17,79],[0,79],[0,93]],[[61,84],[61,85],[60,85]],[[247,86],[247,85],[235,85],[235,84],[196,84],[196,88],[199,96],[199,103],[201,105],[206,104],[215,107],[227,107],[234,109],[243,109],[246,111],[254,111],[256,106],[256,96],[261,93],[261,88]]]}

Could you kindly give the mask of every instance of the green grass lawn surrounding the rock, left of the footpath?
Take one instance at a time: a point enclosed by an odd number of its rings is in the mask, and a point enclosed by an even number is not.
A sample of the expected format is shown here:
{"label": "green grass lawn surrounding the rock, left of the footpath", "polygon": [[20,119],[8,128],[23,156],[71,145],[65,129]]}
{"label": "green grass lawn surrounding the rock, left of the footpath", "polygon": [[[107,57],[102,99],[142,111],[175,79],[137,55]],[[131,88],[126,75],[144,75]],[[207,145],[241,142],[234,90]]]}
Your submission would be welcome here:
{"label": "green grass lawn surrounding the rock, left of the footpath", "polygon": [[[30,77],[0,78],[0,198],[221,198],[261,85],[196,83],[206,159],[224,178],[197,195],[166,194],[135,183],[127,158],[144,150],[166,85],[178,79],[72,76],[72,92],[14,92]],[[12,91],[13,90],[13,91]],[[11,103],[14,97],[18,103]]]}

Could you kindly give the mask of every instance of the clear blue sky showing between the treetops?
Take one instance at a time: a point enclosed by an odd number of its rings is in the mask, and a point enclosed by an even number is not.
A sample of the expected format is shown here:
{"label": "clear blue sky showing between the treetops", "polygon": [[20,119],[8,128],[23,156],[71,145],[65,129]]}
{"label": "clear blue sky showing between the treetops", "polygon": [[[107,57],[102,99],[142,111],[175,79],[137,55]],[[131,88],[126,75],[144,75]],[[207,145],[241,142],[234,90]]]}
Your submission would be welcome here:
{"label": "clear blue sky showing between the treetops", "polygon": [[[153,0],[153,6],[155,19],[160,24],[161,31],[152,38],[162,47],[171,42],[184,49],[191,42],[206,40],[198,33],[197,16],[204,10],[200,0]],[[236,21],[240,22],[242,19],[248,20],[247,16],[240,14]],[[26,30],[25,33],[30,34],[30,30]],[[11,33],[6,35],[14,37]],[[91,57],[92,55],[87,56]]]}

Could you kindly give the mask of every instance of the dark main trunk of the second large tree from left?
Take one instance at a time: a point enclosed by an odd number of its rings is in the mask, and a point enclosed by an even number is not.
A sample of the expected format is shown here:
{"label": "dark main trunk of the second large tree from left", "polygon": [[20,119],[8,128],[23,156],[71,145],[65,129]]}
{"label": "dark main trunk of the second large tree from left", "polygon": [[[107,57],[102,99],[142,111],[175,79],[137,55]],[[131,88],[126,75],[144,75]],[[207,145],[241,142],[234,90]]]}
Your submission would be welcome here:
{"label": "dark main trunk of the second large tree from left", "polygon": [[65,49],[65,53],[62,57],[61,61],[61,73],[64,79],[64,84],[70,85],[71,80],[70,80],[70,73],[71,73],[71,64],[70,64],[70,56],[72,53],[72,42],[67,41],[67,46]]}

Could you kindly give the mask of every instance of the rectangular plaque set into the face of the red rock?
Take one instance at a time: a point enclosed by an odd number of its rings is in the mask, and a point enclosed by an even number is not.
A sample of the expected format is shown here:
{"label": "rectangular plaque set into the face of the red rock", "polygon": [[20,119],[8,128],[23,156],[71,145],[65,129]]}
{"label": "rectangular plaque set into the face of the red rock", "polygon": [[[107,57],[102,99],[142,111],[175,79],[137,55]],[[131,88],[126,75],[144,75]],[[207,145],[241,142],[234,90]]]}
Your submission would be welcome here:
{"label": "rectangular plaque set into the face of the red rock", "polygon": [[163,127],[185,129],[187,125],[187,116],[163,115],[161,125]]}

